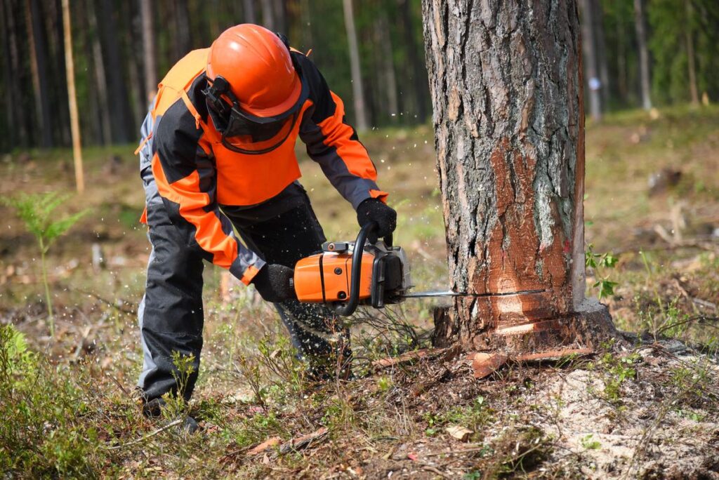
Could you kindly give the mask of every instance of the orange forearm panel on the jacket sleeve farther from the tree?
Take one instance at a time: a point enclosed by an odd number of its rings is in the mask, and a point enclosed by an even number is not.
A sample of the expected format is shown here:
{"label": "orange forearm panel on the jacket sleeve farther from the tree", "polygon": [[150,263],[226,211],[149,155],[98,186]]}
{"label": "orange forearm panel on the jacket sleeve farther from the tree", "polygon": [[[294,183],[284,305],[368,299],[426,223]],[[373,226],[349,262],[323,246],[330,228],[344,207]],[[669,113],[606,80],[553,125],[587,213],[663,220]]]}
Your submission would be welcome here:
{"label": "orange forearm panel on the jacket sleeve farther from the tree", "polygon": [[200,174],[197,170],[170,185],[160,165],[160,159],[155,154],[152,158],[152,174],[155,175],[160,195],[178,203],[180,215],[195,226],[195,240],[203,250],[212,254],[212,263],[229,269],[237,258],[237,241],[225,234],[222,222],[214,212],[204,211],[210,198],[200,191]]}

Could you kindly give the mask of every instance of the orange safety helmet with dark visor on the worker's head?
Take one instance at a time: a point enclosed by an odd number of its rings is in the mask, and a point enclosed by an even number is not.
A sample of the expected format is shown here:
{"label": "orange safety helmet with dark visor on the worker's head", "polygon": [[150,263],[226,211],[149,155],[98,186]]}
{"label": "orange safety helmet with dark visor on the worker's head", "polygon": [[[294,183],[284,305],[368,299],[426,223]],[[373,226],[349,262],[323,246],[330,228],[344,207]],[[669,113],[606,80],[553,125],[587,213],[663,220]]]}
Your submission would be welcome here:
{"label": "orange safety helmet with dark visor on the worker's head", "polygon": [[[235,152],[261,154],[282,144],[297,121],[308,96],[307,83],[290,56],[282,34],[254,24],[226,29],[210,47],[205,93],[218,116],[222,142]],[[288,119],[293,116],[292,125]],[[285,128],[283,128],[285,127]],[[286,134],[273,147],[247,149],[227,137],[265,142]],[[244,143],[244,142],[241,142]]]}

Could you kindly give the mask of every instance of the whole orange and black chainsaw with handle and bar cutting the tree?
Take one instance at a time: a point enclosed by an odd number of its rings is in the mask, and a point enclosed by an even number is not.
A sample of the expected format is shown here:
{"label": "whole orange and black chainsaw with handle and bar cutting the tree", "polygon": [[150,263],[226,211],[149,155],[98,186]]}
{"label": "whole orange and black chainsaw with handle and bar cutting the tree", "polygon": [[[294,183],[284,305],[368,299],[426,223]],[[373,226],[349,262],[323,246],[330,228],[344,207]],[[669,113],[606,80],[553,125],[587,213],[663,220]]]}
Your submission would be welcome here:
{"label": "whole orange and black chainsaw with handle and bar cutting the tree", "polygon": [[392,245],[392,235],[367,243],[377,223],[367,223],[354,241],[328,241],[322,251],[300,259],[295,265],[293,285],[303,303],[325,303],[342,316],[358,305],[383,308],[411,297],[454,297],[451,291],[410,292],[409,262],[401,246]]}

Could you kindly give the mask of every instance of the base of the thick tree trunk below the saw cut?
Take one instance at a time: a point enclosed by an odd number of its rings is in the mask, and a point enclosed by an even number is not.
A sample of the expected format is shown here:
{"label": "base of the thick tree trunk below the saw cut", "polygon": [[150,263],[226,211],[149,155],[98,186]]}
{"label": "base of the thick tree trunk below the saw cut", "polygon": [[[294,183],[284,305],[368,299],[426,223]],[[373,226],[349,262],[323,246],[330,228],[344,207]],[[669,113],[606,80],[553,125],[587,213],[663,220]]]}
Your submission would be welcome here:
{"label": "base of the thick tree trunk below the saw cut", "polygon": [[452,308],[434,310],[432,343],[441,348],[459,343],[467,352],[493,352],[513,359],[556,358],[575,352],[588,353],[621,336],[609,310],[597,300],[585,299],[574,313],[526,323],[498,324],[460,338]]}

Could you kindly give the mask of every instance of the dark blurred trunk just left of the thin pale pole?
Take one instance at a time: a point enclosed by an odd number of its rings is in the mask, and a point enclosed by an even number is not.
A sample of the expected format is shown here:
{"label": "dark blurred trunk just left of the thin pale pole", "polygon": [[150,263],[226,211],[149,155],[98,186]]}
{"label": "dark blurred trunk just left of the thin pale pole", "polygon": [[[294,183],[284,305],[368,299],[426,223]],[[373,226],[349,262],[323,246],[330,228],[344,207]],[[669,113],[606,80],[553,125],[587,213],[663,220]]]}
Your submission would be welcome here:
{"label": "dark blurred trunk just left of the thin pale pole", "polygon": [[49,148],[52,147],[52,121],[50,121],[47,50],[45,48],[45,30],[42,29],[42,11],[37,0],[29,0],[25,6],[37,125],[40,128],[42,147]]}

